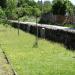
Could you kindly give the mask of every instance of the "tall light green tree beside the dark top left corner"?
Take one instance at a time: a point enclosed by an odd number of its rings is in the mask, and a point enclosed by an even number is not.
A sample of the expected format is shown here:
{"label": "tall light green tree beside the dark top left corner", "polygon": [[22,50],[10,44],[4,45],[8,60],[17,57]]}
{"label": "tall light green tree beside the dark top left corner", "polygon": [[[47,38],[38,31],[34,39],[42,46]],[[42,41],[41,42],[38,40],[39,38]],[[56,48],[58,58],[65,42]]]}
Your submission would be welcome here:
{"label": "tall light green tree beside the dark top left corner", "polygon": [[17,6],[16,0],[7,0],[7,8],[5,10],[5,13],[8,19],[17,19],[16,6]]}

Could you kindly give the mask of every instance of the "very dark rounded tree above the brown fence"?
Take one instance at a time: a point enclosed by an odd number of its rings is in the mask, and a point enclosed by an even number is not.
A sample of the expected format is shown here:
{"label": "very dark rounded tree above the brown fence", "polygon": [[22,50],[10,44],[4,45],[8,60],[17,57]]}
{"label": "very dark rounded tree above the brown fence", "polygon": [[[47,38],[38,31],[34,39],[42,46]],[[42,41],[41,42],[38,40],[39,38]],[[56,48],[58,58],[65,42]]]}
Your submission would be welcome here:
{"label": "very dark rounded tree above the brown fence", "polygon": [[64,2],[57,0],[52,5],[52,12],[55,15],[65,15],[66,14],[66,5]]}

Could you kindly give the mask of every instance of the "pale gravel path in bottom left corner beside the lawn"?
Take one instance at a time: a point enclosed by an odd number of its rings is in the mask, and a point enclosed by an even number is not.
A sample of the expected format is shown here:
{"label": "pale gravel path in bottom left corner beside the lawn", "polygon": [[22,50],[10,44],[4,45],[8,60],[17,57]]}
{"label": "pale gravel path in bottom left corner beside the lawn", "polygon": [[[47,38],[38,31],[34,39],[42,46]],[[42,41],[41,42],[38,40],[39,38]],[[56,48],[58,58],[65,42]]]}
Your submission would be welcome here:
{"label": "pale gravel path in bottom left corner beside the lawn", "polygon": [[4,54],[0,49],[0,75],[13,75],[10,65],[7,63],[7,60],[4,58]]}

